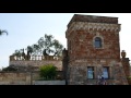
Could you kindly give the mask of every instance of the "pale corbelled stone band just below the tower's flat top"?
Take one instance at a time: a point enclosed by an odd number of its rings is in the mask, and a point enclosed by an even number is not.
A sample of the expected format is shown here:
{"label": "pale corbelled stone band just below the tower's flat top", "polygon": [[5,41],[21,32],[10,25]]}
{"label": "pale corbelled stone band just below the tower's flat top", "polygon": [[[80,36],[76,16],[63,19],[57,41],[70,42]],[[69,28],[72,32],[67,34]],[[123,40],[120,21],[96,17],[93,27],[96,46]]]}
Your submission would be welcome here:
{"label": "pale corbelled stone band just below the tower's flat top", "polygon": [[90,32],[120,32],[121,24],[105,24],[105,23],[88,23],[88,22],[73,22],[66,32],[66,37],[70,35],[71,32],[84,30]]}

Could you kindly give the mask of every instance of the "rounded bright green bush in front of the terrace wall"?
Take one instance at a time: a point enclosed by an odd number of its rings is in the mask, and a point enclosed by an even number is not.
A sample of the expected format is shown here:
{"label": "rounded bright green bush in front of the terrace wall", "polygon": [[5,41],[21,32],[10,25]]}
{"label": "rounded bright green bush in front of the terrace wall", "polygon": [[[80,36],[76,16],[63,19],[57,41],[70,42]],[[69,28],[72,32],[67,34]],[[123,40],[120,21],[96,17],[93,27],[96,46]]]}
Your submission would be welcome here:
{"label": "rounded bright green bush in front of the terrace wall", "polygon": [[40,66],[40,79],[55,79],[57,76],[57,68],[52,64]]}

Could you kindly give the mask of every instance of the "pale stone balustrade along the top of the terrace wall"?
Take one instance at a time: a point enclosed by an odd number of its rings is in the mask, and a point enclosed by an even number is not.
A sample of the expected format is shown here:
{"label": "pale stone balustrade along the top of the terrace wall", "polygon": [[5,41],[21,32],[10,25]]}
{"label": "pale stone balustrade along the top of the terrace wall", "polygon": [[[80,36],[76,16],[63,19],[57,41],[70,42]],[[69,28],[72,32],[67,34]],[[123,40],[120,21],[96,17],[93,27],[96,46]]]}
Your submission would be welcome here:
{"label": "pale stone balustrade along the top of the terrace wall", "polygon": [[33,61],[33,60],[60,60],[59,57],[53,57],[53,56],[29,56],[29,58],[24,58],[22,56],[16,57],[16,56],[10,56],[10,61],[24,61],[24,60],[28,60],[28,61]]}

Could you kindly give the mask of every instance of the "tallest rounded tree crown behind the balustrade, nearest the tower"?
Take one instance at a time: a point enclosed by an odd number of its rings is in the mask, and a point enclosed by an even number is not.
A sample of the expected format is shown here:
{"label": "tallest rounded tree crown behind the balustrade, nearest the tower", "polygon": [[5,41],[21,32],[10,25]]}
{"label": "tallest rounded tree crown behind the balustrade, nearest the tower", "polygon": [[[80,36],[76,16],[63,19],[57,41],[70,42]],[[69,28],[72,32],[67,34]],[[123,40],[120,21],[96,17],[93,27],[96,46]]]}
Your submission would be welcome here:
{"label": "tallest rounded tree crown behind the balustrade, nearest the tower", "polygon": [[45,37],[38,40],[38,46],[44,56],[49,56],[50,53],[53,53],[53,56],[62,54],[63,46],[52,35],[45,34]]}

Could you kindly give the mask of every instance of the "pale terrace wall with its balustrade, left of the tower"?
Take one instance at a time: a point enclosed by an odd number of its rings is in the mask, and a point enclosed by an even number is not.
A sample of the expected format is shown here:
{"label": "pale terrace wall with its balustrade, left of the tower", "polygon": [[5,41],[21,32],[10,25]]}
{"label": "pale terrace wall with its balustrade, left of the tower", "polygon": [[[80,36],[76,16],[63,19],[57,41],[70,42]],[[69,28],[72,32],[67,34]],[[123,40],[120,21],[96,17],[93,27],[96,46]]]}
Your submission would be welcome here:
{"label": "pale terrace wall with its balustrade, left of the tower", "polygon": [[27,70],[27,68],[32,68],[31,70],[35,70],[38,71],[39,66],[41,65],[46,65],[46,64],[53,64],[55,66],[57,66],[58,71],[62,71],[62,61],[61,59],[57,59],[56,57],[51,57],[48,56],[47,58],[37,58],[38,59],[32,59],[33,57],[31,57],[29,60],[23,60],[21,59],[16,59],[16,57],[10,57],[10,62],[9,65],[13,65],[15,68],[17,68],[19,70]]}

